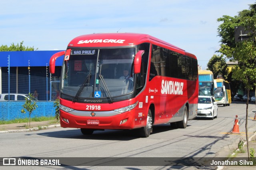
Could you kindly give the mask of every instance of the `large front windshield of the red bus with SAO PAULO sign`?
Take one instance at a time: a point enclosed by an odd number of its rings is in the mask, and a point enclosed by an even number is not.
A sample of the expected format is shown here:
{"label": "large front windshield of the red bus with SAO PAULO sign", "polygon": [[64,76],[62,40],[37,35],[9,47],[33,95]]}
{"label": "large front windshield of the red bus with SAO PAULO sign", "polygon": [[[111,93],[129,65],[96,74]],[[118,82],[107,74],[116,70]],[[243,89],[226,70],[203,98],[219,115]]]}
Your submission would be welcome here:
{"label": "large front windshield of the red bus with SAO PAULO sign", "polygon": [[61,92],[76,98],[114,98],[134,90],[136,48],[72,49],[64,59]]}

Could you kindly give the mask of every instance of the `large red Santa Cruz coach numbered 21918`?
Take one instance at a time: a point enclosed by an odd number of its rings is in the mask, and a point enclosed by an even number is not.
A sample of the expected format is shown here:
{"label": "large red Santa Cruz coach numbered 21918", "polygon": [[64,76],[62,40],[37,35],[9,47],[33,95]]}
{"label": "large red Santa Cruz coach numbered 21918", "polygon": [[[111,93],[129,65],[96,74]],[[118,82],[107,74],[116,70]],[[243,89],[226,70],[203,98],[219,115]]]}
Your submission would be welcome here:
{"label": "large red Santa Cruz coach numbered 21918", "polygon": [[51,73],[62,55],[61,127],[148,137],[153,125],[186,128],[197,115],[197,59],[174,45],[138,33],[82,35],[51,57]]}

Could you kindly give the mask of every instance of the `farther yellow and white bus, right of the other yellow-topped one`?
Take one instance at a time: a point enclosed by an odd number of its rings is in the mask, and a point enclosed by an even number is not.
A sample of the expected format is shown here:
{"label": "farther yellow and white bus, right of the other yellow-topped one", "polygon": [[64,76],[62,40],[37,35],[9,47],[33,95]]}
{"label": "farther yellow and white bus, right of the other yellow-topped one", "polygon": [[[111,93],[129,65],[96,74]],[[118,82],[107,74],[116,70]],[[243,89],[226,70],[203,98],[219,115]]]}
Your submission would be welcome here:
{"label": "farther yellow and white bus, right of the other yellow-topped one", "polygon": [[231,104],[231,91],[229,82],[224,79],[214,79],[217,83],[217,88],[214,90],[214,100],[218,105],[230,106]]}

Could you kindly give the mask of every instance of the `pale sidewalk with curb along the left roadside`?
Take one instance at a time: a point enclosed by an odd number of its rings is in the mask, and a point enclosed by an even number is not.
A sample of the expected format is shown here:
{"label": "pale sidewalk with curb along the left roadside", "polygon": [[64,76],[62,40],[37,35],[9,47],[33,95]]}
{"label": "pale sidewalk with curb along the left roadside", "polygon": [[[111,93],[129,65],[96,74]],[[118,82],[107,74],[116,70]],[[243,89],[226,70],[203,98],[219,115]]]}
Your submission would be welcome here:
{"label": "pale sidewalk with curb along the left roadside", "polygon": [[13,123],[0,125],[0,133],[16,133],[16,132],[26,132],[26,131],[38,131],[42,129],[60,127],[60,123],[52,123],[53,121],[32,121],[30,122],[30,128],[28,128],[29,123]]}

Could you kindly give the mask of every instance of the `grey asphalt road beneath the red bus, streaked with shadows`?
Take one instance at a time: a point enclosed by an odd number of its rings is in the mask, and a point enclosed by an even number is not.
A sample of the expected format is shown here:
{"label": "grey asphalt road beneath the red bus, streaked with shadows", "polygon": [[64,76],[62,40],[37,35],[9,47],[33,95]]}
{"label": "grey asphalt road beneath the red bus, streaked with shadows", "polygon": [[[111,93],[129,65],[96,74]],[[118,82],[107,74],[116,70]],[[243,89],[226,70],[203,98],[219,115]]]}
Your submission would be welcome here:
{"label": "grey asphalt road beneath the red bus, streaked with shadows", "polygon": [[[256,121],[252,120],[255,108],[255,104],[249,104],[248,132],[250,136],[256,131]],[[236,115],[238,115],[240,135],[231,134]],[[122,130],[95,131],[93,135],[84,136],[80,129],[62,127],[34,132],[3,133],[0,134],[0,157],[138,157],[142,165],[151,164],[151,162],[143,162],[149,161],[148,159],[140,160],[140,158],[148,157],[226,157],[237,148],[240,138],[246,140],[245,115],[246,104],[233,102],[231,106],[218,106],[218,117],[214,120],[203,118],[190,120],[186,129],[171,128],[170,124],[157,125],[153,127],[153,133],[148,138],[140,138],[134,135],[134,131]],[[119,166],[111,169],[129,169],[129,167]],[[6,168],[10,167],[5,166]],[[13,168],[25,169],[24,166]],[[65,169],[66,167],[54,166],[55,168]],[[104,169],[104,166],[86,166],[85,168]],[[33,167],[30,166],[30,169]],[[76,167],[71,169],[76,169]],[[168,169],[168,167],[139,166],[132,169]]]}

